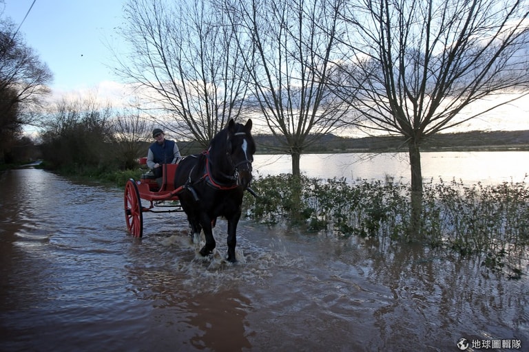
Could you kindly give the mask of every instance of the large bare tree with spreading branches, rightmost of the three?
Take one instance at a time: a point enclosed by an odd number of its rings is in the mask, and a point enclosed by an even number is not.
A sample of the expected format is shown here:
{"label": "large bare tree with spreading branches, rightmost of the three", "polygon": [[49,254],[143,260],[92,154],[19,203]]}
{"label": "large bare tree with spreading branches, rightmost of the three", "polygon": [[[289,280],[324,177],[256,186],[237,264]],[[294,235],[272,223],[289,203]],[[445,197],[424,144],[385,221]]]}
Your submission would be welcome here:
{"label": "large bare tree with spreading branches, rightmost of the three", "polygon": [[[415,217],[424,140],[512,102],[506,93],[529,93],[528,11],[526,0],[359,0],[341,9],[349,76],[335,88],[369,118],[360,126],[402,135]],[[486,98],[492,108],[479,104]]]}

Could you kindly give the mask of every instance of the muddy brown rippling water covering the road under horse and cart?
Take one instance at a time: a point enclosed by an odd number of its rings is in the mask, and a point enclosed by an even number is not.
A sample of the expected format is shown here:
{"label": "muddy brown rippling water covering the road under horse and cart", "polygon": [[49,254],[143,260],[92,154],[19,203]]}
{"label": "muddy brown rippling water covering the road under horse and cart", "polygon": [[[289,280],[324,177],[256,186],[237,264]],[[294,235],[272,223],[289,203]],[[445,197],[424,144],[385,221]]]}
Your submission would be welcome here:
{"label": "muddy brown rippling water covering the road under horse and cart", "polygon": [[224,221],[206,260],[180,213],[134,239],[117,188],[30,168],[0,195],[0,351],[529,351],[527,276],[478,260],[242,221],[228,265]]}

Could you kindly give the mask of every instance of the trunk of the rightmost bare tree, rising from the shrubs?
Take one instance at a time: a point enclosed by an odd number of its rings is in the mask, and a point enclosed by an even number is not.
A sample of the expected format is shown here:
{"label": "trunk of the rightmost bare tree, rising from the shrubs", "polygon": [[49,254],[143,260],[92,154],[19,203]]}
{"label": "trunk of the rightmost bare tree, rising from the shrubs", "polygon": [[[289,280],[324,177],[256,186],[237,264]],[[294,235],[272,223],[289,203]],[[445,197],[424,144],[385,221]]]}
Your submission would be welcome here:
{"label": "trunk of the rightmost bare tree, rising from the shrubs", "polygon": [[421,213],[422,213],[422,169],[421,152],[415,140],[408,144],[411,168],[411,223],[410,240],[421,240]]}

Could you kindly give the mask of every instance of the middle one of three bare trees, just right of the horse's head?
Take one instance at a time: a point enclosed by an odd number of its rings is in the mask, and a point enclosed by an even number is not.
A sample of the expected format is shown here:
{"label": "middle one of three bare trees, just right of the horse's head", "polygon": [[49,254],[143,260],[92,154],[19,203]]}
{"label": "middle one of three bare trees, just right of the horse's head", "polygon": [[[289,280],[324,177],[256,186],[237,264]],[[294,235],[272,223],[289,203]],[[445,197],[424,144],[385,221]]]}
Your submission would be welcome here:
{"label": "middle one of three bare trees, just right of the horse's head", "polygon": [[[251,74],[252,101],[292,157],[300,175],[307,146],[336,129],[348,106],[326,88],[342,0],[226,1],[238,39],[251,37],[253,50],[240,50]],[[242,28],[245,28],[242,31]]]}

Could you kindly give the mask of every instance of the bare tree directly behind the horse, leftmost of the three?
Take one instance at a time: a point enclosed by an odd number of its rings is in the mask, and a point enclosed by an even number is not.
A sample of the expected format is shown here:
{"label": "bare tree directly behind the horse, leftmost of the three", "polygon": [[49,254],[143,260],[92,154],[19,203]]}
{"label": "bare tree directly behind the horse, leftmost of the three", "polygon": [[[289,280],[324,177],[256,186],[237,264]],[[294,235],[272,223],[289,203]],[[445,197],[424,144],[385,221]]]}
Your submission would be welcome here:
{"label": "bare tree directly behind the horse, leftmost of the three", "polygon": [[116,72],[141,89],[155,122],[207,146],[247,94],[233,26],[210,1],[130,0],[125,15],[132,51]]}

